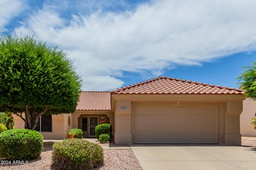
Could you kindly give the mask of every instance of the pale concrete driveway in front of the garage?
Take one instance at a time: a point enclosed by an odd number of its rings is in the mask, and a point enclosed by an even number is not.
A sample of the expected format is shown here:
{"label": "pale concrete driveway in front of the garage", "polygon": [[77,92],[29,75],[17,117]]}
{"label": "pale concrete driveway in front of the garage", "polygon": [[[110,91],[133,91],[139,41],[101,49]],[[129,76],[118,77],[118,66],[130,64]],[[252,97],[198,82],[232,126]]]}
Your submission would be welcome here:
{"label": "pale concrete driveway in front of the garage", "polygon": [[218,145],[133,145],[143,169],[255,169],[256,149]]}

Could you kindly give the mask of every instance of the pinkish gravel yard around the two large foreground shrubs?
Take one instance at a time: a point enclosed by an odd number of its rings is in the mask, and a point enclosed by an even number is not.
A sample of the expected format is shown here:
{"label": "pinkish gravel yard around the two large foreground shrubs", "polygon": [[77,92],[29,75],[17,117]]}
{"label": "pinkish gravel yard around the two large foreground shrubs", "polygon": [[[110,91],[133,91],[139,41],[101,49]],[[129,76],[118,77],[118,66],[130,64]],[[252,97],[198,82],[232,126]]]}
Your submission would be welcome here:
{"label": "pinkish gravel yard around the two large foreground shrubs", "polygon": [[[53,142],[44,142],[41,157],[24,165],[0,165],[0,169],[17,169],[17,170],[34,170],[34,169],[51,169],[51,154]],[[142,169],[137,157],[131,149],[104,149],[105,165],[97,168],[105,169]],[[0,159],[4,162],[4,159]]]}

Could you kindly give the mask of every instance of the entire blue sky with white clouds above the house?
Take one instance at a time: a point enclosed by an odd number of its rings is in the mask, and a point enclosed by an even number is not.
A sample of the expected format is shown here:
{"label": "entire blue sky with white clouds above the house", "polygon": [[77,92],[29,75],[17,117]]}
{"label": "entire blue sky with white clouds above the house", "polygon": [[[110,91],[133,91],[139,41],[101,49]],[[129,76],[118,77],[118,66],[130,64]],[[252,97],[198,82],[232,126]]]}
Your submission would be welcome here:
{"label": "entire blue sky with white clouds above the house", "polygon": [[159,75],[237,87],[256,61],[255,0],[0,0],[0,8],[0,36],[59,46],[83,90]]}

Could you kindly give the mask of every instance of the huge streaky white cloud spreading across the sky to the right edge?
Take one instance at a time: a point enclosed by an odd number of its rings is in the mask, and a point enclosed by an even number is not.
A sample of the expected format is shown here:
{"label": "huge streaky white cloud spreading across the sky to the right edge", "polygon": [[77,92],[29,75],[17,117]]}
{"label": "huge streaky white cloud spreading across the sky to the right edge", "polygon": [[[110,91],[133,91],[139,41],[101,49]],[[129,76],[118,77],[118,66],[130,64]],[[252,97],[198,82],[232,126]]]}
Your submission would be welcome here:
{"label": "huge streaky white cloud spreading across the sky to the right edge", "polygon": [[[256,49],[256,1],[153,1],[125,12],[61,18],[44,7],[15,33],[59,45],[74,59],[84,90],[122,86],[123,71],[160,75]],[[241,59],[242,60],[242,59]]]}

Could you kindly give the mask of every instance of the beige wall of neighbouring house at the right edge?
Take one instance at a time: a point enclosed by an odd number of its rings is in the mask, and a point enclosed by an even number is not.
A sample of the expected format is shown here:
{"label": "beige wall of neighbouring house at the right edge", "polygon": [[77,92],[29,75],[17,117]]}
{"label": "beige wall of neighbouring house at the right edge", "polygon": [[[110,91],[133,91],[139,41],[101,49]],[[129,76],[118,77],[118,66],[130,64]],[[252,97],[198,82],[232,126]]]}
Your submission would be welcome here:
{"label": "beige wall of neighbouring house at the right edge", "polygon": [[243,101],[243,112],[240,115],[241,134],[243,137],[256,137],[256,130],[251,125],[256,117],[256,103],[250,98]]}

